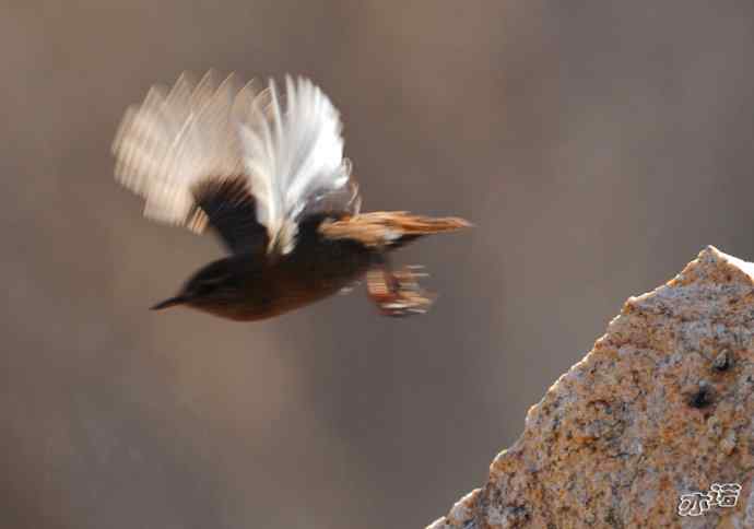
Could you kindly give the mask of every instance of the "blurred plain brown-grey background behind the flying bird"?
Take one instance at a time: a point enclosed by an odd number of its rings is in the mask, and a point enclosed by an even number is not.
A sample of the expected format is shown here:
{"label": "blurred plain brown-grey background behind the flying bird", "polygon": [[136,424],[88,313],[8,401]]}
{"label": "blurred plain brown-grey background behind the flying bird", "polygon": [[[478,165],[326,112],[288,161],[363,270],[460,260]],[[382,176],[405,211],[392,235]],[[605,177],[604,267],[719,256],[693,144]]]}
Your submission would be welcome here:
{"label": "blurred plain brown-grey background behind the flying bird", "polygon": [[[0,8],[0,527],[423,527],[633,294],[754,258],[754,3],[232,0]],[[215,258],[110,141],[152,83],[310,75],[366,209],[476,227],[441,293],[238,325],[146,307]]]}

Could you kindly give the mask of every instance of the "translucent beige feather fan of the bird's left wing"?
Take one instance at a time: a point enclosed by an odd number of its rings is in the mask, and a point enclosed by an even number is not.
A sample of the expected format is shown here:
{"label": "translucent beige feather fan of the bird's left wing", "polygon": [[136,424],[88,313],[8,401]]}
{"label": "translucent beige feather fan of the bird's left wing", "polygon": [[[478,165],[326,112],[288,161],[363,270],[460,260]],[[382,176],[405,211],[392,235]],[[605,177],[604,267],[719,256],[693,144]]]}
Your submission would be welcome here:
{"label": "translucent beige feather fan of the bird's left wing", "polygon": [[[254,92],[240,93],[251,98]],[[203,231],[192,187],[244,171],[231,120],[238,97],[233,77],[217,84],[212,72],[199,83],[184,74],[169,92],[153,87],[127,110],[113,145],[115,174],[145,199],[146,216]]]}

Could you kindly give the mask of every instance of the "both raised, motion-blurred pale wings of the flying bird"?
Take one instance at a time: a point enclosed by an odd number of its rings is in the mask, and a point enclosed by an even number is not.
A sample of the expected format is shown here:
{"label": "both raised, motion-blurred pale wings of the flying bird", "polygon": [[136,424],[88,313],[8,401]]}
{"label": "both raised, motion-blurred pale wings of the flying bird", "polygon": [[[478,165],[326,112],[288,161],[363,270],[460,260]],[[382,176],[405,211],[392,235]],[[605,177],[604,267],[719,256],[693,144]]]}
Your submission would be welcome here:
{"label": "both raised, motion-blurred pale wings of the flying bird", "polygon": [[[338,110],[310,81],[286,78],[258,93],[181,75],[130,108],[113,146],[116,178],[145,199],[144,214],[201,233],[209,223],[233,251],[260,239],[288,252],[304,212],[356,212]],[[208,184],[209,183],[209,184]]]}

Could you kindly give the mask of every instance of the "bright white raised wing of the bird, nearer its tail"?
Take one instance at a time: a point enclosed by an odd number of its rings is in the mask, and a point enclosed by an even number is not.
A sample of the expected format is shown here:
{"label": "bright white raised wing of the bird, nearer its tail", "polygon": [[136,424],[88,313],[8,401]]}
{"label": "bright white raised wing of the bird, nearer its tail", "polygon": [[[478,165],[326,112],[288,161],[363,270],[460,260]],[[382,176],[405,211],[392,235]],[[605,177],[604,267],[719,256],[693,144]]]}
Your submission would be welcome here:
{"label": "bright white raised wing of the bird, nearer its tail", "polygon": [[293,249],[305,211],[355,203],[341,128],[338,110],[309,80],[287,77],[284,105],[273,81],[255,98],[240,138],[270,251]]}

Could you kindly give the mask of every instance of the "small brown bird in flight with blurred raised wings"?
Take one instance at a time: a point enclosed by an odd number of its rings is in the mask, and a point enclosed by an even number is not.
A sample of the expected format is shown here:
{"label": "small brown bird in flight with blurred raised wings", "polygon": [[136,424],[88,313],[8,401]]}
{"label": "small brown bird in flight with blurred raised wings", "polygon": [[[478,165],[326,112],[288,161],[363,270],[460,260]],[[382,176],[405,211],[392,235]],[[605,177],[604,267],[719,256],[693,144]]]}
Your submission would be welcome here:
{"label": "small brown bird in flight with blurred raised wings", "polygon": [[130,106],[117,130],[115,177],[151,220],[214,232],[227,254],[151,308],[185,306],[256,321],[323,299],[366,278],[386,316],[422,314],[434,295],[394,250],[471,224],[407,211],[361,212],[340,113],[313,81],[266,86],[236,74],[182,73]]}

